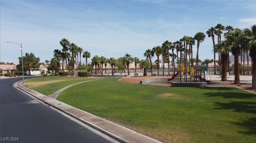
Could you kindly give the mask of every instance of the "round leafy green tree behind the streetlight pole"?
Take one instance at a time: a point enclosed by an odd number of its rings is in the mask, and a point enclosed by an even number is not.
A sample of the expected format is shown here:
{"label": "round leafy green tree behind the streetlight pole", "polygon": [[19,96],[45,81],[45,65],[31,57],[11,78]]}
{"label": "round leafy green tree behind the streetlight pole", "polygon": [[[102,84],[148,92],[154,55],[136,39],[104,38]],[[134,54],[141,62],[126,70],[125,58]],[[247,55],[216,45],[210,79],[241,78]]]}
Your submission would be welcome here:
{"label": "round leafy green tree behind the streetlight pole", "polygon": [[[22,57],[19,57],[19,65],[17,65],[17,69],[22,71]],[[26,53],[25,57],[23,57],[23,70],[24,72],[28,71],[30,75],[30,70],[38,69],[41,65],[40,58],[35,57],[33,53]]]}

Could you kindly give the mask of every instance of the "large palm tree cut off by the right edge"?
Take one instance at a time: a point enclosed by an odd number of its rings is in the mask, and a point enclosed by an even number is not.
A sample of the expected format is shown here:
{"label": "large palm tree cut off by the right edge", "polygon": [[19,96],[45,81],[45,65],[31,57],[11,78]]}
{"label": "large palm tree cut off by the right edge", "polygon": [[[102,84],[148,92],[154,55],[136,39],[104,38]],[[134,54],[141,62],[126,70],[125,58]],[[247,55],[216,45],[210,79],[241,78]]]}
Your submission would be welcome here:
{"label": "large palm tree cut off by the right edge", "polygon": [[256,24],[251,29],[245,28],[240,37],[243,47],[248,47],[250,57],[252,58],[252,89],[256,89]]}

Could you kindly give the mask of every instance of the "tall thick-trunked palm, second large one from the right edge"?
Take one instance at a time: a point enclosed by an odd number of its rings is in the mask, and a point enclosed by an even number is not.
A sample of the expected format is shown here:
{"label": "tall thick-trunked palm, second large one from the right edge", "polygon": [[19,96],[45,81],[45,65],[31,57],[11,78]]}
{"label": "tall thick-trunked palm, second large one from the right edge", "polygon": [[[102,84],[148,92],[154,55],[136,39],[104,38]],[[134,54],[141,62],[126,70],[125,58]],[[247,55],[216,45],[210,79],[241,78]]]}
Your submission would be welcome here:
{"label": "tall thick-trunked palm, second large one from the right edge", "polygon": [[[241,55],[241,47],[239,38],[242,35],[241,29],[235,29],[235,31],[229,31],[225,33],[226,42],[231,47],[231,53],[234,55],[234,74],[235,80],[234,84],[240,84],[240,76],[239,76],[239,55]],[[229,63],[229,62],[228,62]]]}

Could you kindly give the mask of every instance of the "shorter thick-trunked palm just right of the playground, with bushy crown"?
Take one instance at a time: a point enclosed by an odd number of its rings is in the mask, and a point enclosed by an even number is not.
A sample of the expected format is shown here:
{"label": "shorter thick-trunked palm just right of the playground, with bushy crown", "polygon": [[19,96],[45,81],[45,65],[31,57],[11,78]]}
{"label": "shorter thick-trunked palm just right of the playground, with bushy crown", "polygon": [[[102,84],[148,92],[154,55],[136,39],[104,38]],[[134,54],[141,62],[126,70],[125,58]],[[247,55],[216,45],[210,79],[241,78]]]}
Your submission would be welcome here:
{"label": "shorter thick-trunked palm just right of the playground, with bushy crown", "polygon": [[229,51],[230,48],[228,47],[226,41],[221,41],[220,43],[215,45],[216,47],[216,52],[220,52],[220,60],[221,66],[222,66],[222,76],[221,76],[221,81],[227,81],[227,66],[228,66],[228,56],[229,56]]}

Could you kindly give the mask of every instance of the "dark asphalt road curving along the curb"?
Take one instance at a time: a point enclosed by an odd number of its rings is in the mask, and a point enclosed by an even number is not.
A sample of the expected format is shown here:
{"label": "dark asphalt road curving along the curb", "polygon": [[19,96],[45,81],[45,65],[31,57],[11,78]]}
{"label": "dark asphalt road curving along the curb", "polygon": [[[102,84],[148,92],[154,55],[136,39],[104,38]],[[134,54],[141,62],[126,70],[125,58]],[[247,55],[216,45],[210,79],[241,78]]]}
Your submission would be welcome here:
{"label": "dark asphalt road curving along the curb", "polygon": [[14,88],[18,80],[22,78],[0,80],[1,143],[116,143]]}

